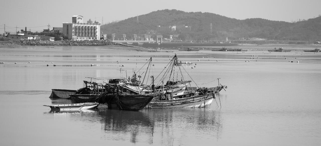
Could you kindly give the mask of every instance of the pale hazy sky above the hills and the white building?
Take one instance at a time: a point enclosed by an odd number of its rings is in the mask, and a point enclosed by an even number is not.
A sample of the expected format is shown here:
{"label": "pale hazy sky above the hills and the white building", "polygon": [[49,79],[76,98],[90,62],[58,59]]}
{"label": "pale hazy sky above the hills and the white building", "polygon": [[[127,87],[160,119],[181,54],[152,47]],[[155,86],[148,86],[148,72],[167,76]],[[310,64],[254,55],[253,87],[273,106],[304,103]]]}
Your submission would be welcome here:
{"label": "pale hazy sky above the hills and the white building", "polygon": [[209,12],[236,19],[263,18],[293,22],[318,17],[319,0],[1,0],[0,33],[21,29],[42,32],[62,27],[72,16],[83,16],[103,24],[124,20],[152,11],[176,9],[186,12]]}

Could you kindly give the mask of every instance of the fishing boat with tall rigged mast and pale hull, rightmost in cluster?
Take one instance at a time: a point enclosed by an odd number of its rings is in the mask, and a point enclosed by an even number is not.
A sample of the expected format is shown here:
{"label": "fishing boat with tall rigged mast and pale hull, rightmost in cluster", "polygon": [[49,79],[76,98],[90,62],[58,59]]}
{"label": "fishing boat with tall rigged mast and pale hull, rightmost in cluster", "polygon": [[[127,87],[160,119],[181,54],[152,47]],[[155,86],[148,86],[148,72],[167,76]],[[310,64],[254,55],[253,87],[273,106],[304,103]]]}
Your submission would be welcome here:
{"label": "fishing boat with tall rigged mast and pale hull, rightmost in cluster", "polygon": [[[167,71],[164,73],[163,77],[160,80],[164,80],[169,76],[169,80],[175,80],[171,74],[175,75],[175,70],[179,70],[181,73],[181,68],[183,66],[175,67],[175,64],[180,62],[177,58],[177,55],[173,57],[169,65],[167,66]],[[178,69],[177,69],[178,68]],[[183,69],[185,70],[185,69]],[[175,76],[177,77],[177,76]],[[178,77],[177,77],[178,78]],[[169,81],[168,81],[169,82]],[[186,81],[180,81],[186,84]],[[173,82],[175,83],[175,82]],[[177,82],[179,83],[179,82]],[[161,84],[161,83],[158,83]],[[164,84],[164,82],[162,82]],[[190,84],[190,81],[187,81],[187,84]],[[164,86],[164,85],[163,85]],[[161,88],[161,86],[158,86]],[[164,86],[165,87],[165,86]],[[163,90],[154,91],[153,100],[146,106],[146,108],[202,108],[209,107],[216,98],[216,93],[220,92],[222,89],[227,88],[227,86],[218,86],[213,88],[206,87],[192,87],[182,88],[177,91],[181,91],[182,94],[175,95],[175,92],[172,92],[170,88],[163,88]],[[157,88],[156,88],[157,89]],[[225,90],[225,89],[224,89]]]}

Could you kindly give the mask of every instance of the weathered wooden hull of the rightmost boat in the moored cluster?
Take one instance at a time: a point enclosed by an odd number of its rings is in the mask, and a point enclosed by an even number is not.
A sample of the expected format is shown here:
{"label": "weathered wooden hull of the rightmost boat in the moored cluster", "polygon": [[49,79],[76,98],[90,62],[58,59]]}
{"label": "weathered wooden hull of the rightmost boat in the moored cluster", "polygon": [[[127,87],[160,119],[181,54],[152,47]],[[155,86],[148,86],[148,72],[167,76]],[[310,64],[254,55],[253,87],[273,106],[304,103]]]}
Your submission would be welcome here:
{"label": "weathered wooden hull of the rightmost boat in the moored cluster", "polygon": [[213,94],[192,96],[172,100],[152,100],[147,108],[203,108],[209,107],[213,101]]}

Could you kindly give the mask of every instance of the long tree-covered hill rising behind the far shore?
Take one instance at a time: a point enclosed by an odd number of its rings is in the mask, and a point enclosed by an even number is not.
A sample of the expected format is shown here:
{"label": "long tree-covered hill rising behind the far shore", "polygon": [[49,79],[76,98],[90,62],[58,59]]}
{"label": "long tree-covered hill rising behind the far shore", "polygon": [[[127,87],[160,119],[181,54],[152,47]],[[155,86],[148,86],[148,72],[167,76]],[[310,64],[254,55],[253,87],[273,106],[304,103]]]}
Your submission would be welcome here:
{"label": "long tree-covered hill rising behind the far shore", "polygon": [[[212,32],[211,27],[212,23]],[[181,34],[182,40],[232,40],[239,38],[264,38],[268,40],[321,40],[321,17],[311,18],[299,22],[271,21],[262,18],[239,20],[208,12],[184,12],[178,10],[159,10],[151,13],[112,22],[102,26],[105,34],[116,33],[116,38],[126,34],[153,34],[157,26],[173,26],[183,24],[191,26],[189,33],[162,33],[164,38],[169,34]],[[158,33],[156,33],[158,34]],[[155,37],[155,36],[153,36]]]}

